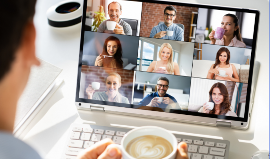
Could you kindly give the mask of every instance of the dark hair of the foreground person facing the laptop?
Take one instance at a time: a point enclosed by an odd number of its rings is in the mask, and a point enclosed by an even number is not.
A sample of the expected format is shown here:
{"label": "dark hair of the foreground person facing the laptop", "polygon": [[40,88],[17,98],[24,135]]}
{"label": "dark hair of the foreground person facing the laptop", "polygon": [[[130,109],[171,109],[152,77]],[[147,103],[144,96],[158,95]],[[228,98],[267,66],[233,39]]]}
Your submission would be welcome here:
{"label": "dark hair of the foreground person facing the laptop", "polygon": [[26,24],[33,19],[36,0],[0,1],[0,80],[11,68]]}

